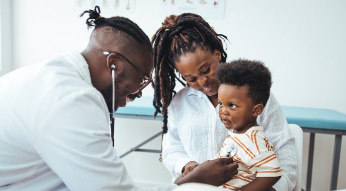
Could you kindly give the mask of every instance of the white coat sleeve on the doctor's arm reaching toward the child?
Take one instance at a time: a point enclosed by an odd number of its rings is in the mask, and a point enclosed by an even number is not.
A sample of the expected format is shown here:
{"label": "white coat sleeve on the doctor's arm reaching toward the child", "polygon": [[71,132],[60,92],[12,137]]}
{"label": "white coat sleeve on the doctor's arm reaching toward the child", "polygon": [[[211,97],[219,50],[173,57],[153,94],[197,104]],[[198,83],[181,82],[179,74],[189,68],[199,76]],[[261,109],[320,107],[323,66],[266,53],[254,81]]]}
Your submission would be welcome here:
{"label": "white coat sleeve on the doctor's arm reaching toward the child", "polygon": [[109,118],[96,90],[67,95],[38,127],[35,149],[71,191],[171,191],[135,187],[112,147]]}

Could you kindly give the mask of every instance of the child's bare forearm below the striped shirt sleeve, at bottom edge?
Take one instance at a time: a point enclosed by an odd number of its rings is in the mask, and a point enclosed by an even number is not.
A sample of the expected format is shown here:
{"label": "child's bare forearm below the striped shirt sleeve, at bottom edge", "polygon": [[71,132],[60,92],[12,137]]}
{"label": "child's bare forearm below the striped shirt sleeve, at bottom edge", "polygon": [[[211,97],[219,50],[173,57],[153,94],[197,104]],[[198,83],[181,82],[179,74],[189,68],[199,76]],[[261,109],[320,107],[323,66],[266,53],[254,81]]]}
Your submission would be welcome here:
{"label": "child's bare forearm below the striped shirt sleeve, at bottom edge", "polygon": [[275,191],[272,186],[279,181],[279,177],[258,177],[253,182],[243,186],[241,191]]}

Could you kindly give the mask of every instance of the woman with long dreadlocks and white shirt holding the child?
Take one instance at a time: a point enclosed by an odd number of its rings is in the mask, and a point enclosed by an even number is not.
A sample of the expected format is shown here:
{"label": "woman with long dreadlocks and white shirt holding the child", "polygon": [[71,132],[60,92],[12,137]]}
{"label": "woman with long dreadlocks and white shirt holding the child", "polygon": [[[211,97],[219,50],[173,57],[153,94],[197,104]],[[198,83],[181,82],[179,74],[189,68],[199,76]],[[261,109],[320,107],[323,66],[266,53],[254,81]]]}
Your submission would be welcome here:
{"label": "woman with long dreadlocks and white shirt holding the child", "polygon": [[[167,17],[152,38],[154,107],[156,114],[164,116],[163,131],[167,134],[163,135],[162,160],[173,181],[212,160],[228,134],[218,118],[220,84],[215,74],[227,58],[222,38],[226,36],[217,34],[201,16],[192,13]],[[185,86],[176,94],[175,80]],[[271,189],[293,190],[297,167],[294,138],[272,94],[257,123],[273,143],[283,170]]]}

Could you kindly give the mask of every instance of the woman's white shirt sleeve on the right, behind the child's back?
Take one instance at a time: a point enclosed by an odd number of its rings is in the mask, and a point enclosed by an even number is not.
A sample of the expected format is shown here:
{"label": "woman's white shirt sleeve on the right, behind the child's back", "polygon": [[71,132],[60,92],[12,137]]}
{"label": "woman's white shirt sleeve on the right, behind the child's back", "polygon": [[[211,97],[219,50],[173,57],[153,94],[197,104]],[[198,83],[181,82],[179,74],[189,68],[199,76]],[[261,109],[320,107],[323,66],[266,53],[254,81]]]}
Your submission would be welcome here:
{"label": "woman's white shirt sleeve on the right, behind the child's back", "polygon": [[281,106],[271,92],[268,102],[257,121],[264,128],[267,139],[274,145],[274,152],[283,172],[281,179],[273,188],[276,191],[292,191],[297,181],[294,137],[288,127]]}

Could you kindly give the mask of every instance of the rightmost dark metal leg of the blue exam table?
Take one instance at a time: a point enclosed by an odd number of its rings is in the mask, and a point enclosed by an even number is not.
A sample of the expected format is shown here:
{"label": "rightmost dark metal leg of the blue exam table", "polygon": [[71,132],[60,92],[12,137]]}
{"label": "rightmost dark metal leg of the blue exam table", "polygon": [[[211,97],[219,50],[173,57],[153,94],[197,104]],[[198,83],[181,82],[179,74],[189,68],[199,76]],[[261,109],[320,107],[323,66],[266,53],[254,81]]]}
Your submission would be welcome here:
{"label": "rightmost dark metal leg of the blue exam table", "polygon": [[332,179],[331,179],[331,189],[330,189],[331,191],[337,190],[337,186],[338,186],[338,174],[339,174],[339,162],[340,162],[342,138],[343,138],[343,135],[335,135]]}

